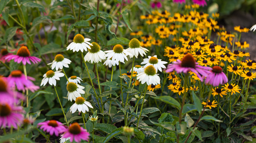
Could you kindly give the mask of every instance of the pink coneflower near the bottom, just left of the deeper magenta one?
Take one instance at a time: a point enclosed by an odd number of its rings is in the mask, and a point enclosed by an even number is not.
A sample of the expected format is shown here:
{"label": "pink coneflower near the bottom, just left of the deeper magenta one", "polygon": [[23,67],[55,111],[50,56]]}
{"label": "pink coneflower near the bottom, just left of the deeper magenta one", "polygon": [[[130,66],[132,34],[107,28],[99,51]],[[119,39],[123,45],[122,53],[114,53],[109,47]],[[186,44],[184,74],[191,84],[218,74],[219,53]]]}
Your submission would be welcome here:
{"label": "pink coneflower near the bottom, just left of the deeper magenta one", "polygon": [[45,122],[41,122],[37,124],[40,129],[42,129],[44,132],[50,133],[50,135],[53,135],[53,133],[56,136],[59,136],[59,133],[63,133],[66,128],[63,126],[63,124],[56,120],[48,120]]}

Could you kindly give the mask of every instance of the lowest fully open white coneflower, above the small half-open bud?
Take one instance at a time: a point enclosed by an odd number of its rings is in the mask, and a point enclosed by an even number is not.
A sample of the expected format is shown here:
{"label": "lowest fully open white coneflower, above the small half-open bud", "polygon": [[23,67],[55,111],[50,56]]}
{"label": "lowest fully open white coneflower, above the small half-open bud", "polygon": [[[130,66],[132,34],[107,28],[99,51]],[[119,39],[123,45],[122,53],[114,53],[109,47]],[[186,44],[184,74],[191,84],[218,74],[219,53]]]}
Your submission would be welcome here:
{"label": "lowest fully open white coneflower, above the small half-open bud", "polygon": [[70,107],[70,112],[75,113],[76,110],[79,112],[85,113],[89,111],[89,108],[93,108],[92,104],[88,101],[85,101],[83,97],[77,97],[75,103]]}

